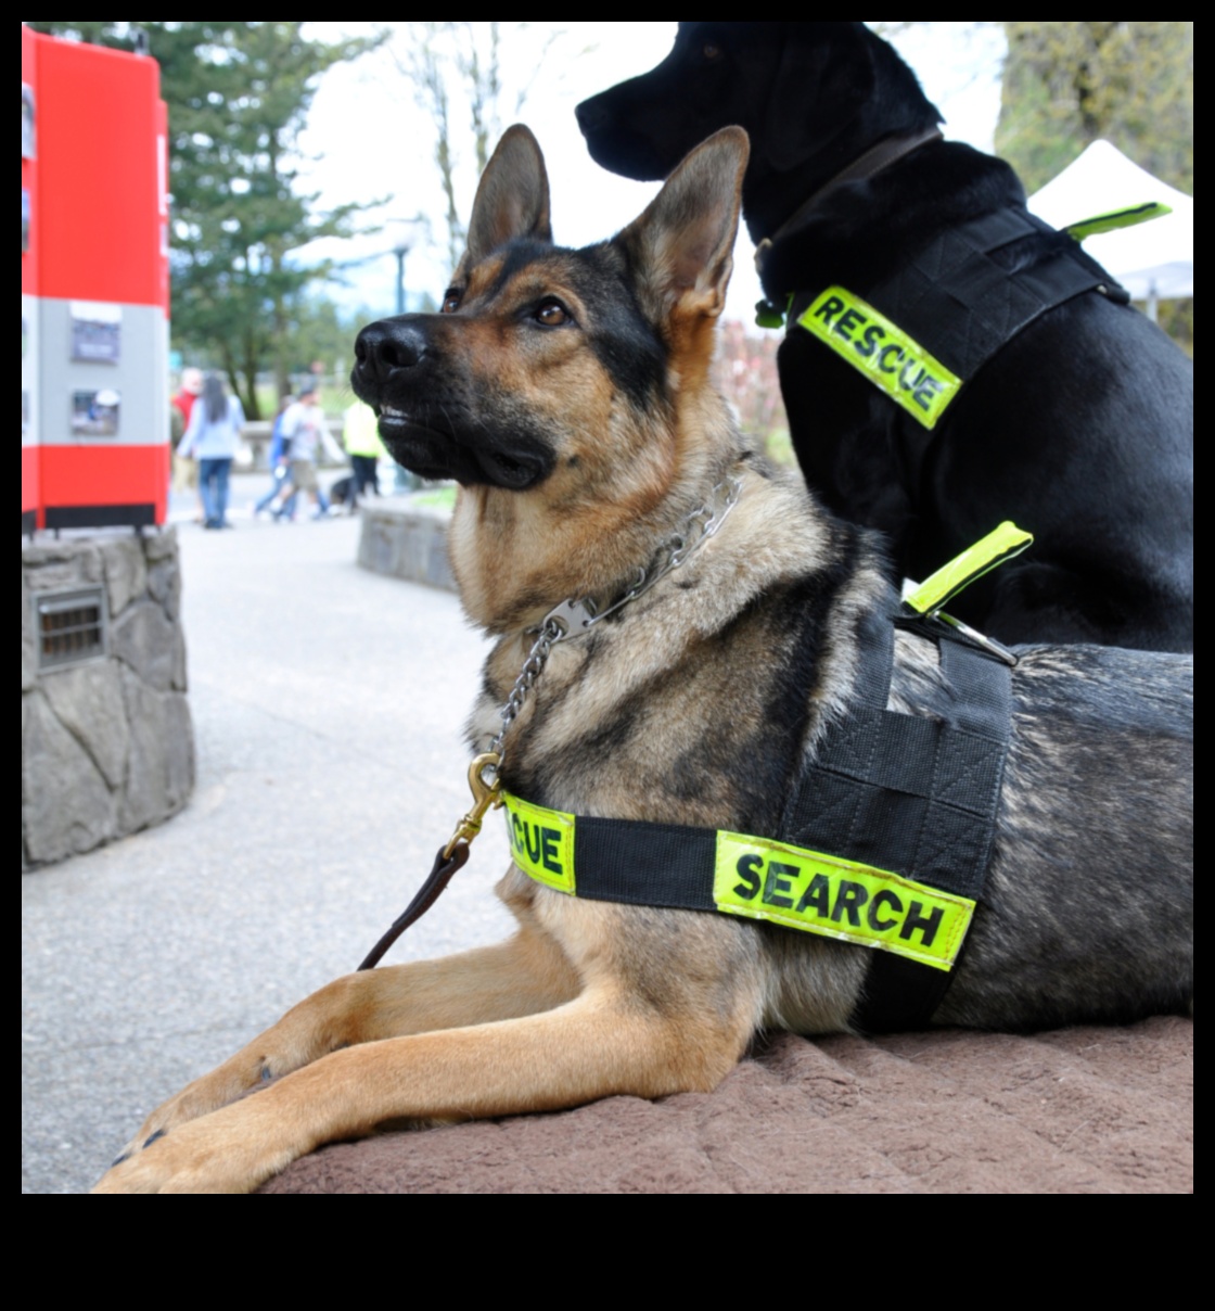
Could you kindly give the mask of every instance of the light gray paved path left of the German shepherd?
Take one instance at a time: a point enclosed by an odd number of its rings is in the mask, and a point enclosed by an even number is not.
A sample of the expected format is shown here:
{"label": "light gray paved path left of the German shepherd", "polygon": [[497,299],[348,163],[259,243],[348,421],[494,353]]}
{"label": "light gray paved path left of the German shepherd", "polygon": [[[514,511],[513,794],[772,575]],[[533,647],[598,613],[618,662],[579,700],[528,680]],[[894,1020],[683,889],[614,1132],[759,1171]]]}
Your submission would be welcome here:
{"label": "light gray paved path left of the German shepherd", "polygon": [[[265,476],[237,479],[237,507]],[[143,1117],[354,969],[468,801],[481,638],[354,564],[357,519],[178,528],[198,785],[22,876],[21,1185],[79,1192]],[[389,960],[502,937],[501,821]]]}

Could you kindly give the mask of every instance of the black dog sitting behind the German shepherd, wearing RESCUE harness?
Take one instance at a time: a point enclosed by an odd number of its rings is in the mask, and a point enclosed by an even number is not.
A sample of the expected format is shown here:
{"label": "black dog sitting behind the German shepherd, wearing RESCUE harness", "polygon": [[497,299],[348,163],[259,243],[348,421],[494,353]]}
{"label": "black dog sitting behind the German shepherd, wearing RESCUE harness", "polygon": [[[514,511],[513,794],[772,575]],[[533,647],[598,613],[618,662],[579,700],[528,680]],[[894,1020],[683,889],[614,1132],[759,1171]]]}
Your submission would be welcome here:
{"label": "black dog sitting behind the German shepherd, wearing RESCUE harness", "polygon": [[890,46],[862,24],[680,24],[578,121],[598,163],[642,180],[746,127],[764,291],[809,325],[780,349],[798,460],[886,532],[897,574],[1014,519],[1034,549],[961,617],[1007,641],[1193,649],[1191,363],[1028,215],[1007,164],[940,139]]}

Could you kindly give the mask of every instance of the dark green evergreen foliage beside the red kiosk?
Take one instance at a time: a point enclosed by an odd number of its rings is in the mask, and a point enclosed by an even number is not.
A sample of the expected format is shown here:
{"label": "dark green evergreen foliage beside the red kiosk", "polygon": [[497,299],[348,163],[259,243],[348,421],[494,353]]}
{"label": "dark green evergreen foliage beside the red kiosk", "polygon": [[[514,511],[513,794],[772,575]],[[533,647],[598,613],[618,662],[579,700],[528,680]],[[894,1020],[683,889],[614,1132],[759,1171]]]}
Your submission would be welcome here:
{"label": "dark green evergreen foliage beside the red kiosk", "polygon": [[169,106],[174,341],[218,361],[260,417],[254,378],[269,366],[286,388],[305,288],[330,273],[292,252],[355,220],[296,191],[296,142],[321,73],[376,42],[308,41],[299,22],[30,26],[119,49],[148,33]]}

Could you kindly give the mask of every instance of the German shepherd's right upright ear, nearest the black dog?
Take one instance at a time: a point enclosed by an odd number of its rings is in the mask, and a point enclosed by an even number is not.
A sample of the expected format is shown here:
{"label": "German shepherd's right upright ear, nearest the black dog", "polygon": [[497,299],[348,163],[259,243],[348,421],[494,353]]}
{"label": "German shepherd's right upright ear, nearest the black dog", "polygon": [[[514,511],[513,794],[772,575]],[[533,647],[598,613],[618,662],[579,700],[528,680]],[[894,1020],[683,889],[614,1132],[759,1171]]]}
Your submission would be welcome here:
{"label": "German shepherd's right upright ear, nearest the black dog", "polygon": [[750,153],[741,127],[723,127],[688,155],[641,218],[616,237],[637,270],[644,309],[716,317],[734,269],[742,180]]}

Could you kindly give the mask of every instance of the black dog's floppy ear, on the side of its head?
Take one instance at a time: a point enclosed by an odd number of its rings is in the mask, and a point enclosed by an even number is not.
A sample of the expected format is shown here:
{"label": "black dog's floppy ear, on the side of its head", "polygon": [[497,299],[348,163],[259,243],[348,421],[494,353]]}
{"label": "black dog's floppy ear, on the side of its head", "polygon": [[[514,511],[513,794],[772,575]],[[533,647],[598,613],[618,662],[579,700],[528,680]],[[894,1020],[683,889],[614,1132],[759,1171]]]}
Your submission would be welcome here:
{"label": "black dog's floppy ear, on the side of its head", "polygon": [[856,121],[876,85],[873,41],[861,22],[786,22],[768,93],[764,144],[784,172],[831,146]]}

